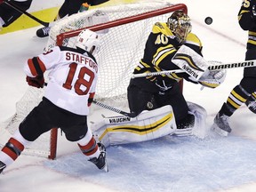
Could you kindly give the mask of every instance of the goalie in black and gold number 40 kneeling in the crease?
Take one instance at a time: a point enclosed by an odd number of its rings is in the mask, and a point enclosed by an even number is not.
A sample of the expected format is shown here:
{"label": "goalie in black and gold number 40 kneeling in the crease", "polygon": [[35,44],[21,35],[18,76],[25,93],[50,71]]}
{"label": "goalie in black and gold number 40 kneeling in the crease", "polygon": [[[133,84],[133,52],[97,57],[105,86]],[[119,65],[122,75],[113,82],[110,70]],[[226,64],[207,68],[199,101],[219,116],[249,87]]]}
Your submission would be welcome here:
{"label": "goalie in black and gold number 40 kneeling in the crease", "polygon": [[[204,127],[204,108],[185,100],[179,81],[185,79],[213,89],[223,83],[226,71],[209,70],[201,41],[191,28],[188,15],[182,11],[153,26],[127,88],[129,108],[136,118],[110,117],[93,125],[106,146],[168,134],[189,135]],[[176,69],[179,71],[173,72]],[[168,75],[159,75],[167,70],[171,71]]]}

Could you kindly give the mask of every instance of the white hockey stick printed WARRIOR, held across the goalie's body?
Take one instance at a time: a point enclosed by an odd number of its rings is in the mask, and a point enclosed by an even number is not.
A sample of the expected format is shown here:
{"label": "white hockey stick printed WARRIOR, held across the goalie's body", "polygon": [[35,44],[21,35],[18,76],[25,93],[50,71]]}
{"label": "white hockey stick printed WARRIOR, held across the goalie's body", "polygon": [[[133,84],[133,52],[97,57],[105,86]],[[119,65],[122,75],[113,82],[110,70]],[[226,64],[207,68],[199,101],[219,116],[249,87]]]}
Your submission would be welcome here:
{"label": "white hockey stick printed WARRIOR, held across the goalie's body", "polygon": [[[242,62],[233,62],[233,63],[226,63],[221,65],[213,65],[210,66],[209,70],[220,70],[220,69],[227,69],[227,68],[251,68],[256,67],[256,60],[244,60]],[[145,74],[132,74],[132,78],[137,77],[145,77],[145,76],[160,76],[160,75],[169,75],[172,73],[183,73],[185,72],[182,69],[175,69],[175,70],[166,70],[166,71],[159,71],[159,72],[152,72],[152,73],[145,73]]]}

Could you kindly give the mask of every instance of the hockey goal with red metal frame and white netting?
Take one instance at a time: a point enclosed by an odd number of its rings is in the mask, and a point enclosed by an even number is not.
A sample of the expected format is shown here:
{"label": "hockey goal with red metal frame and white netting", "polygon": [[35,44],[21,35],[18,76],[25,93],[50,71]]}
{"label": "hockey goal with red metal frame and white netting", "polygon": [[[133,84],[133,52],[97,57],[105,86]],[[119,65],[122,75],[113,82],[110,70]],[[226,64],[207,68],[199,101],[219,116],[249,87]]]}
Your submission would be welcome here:
{"label": "hockey goal with red metal frame and white netting", "polygon": [[[154,23],[165,22],[176,10],[187,12],[187,6],[159,1],[121,4],[80,12],[52,26],[44,51],[51,50],[56,44],[74,47],[76,36],[84,28],[98,31],[102,43],[96,56],[100,68],[95,99],[116,107],[124,106],[127,105],[126,90],[132,71],[143,55],[145,43]],[[40,102],[43,94],[43,89],[28,88],[17,103],[16,114],[4,123],[4,134],[12,134],[19,127],[24,117]],[[54,159],[56,144],[55,128],[52,132],[44,133],[26,148],[25,152]]]}

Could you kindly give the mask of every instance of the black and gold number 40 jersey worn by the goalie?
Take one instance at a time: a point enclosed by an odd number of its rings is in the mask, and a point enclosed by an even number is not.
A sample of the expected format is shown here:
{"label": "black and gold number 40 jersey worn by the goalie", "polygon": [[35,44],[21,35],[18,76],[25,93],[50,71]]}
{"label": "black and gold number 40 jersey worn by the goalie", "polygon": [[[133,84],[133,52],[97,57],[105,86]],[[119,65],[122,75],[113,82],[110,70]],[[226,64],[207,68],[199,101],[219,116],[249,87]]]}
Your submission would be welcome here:
{"label": "black and gold number 40 jersey worn by the goalie", "polygon": [[[193,49],[198,54],[202,55],[202,44],[199,38],[189,33],[186,40],[182,43]],[[156,22],[153,26],[145,46],[143,58],[140,64],[134,69],[134,74],[158,72],[164,70],[180,69],[172,63],[172,57],[182,45],[173,35],[170,28],[165,22]],[[184,73],[172,73],[168,76],[147,76],[146,79],[151,81],[152,84],[156,81],[165,81],[165,84],[172,84],[179,82],[180,79],[185,78],[189,81],[188,75]],[[140,80],[139,80],[140,79]],[[145,78],[136,78],[136,81],[145,83]],[[152,86],[151,86],[152,87]]]}

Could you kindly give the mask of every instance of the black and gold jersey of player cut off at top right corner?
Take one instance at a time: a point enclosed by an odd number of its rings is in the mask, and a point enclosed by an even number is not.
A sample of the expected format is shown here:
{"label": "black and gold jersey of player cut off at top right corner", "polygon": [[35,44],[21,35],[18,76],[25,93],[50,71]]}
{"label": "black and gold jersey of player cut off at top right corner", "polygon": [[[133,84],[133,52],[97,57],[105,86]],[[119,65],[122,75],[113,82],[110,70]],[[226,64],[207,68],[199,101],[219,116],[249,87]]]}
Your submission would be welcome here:
{"label": "black and gold jersey of player cut off at top right corner", "polygon": [[252,17],[253,5],[256,5],[256,0],[244,0],[238,12],[240,27],[248,30],[247,49],[256,49],[256,17]]}

